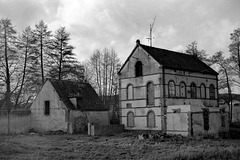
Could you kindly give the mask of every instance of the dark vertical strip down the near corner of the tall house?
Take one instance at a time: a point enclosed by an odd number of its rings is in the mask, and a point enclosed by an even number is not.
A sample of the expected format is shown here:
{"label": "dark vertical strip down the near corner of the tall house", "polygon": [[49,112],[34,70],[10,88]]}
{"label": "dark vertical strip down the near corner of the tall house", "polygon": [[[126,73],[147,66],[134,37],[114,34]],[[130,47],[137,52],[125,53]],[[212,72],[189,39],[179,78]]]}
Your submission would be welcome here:
{"label": "dark vertical strip down the near corner of the tall house", "polygon": [[166,88],[165,88],[165,69],[162,67],[162,86],[163,86],[163,106],[161,106],[162,113],[162,132],[167,132],[167,106],[166,106]]}

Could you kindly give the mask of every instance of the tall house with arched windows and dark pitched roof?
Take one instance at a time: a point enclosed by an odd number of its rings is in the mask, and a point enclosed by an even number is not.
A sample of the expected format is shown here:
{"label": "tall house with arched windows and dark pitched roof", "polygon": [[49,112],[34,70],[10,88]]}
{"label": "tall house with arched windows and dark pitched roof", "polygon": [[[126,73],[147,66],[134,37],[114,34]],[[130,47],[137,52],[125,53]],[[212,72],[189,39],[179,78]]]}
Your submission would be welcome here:
{"label": "tall house with arched windows and dark pitched roof", "polygon": [[146,46],[137,40],[119,70],[121,123],[128,130],[166,131],[168,106],[216,108],[217,76],[196,56]]}

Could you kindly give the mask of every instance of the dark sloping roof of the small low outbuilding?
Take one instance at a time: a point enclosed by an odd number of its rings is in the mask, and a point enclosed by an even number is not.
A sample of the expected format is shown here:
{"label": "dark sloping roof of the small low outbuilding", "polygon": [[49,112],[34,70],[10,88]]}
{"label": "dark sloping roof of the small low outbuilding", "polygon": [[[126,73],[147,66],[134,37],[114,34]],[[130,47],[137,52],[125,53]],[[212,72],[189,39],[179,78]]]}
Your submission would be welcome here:
{"label": "dark sloping roof of the small low outbuilding", "polygon": [[69,98],[78,98],[77,108],[81,111],[108,110],[89,83],[54,79],[49,81],[69,109],[76,109]]}

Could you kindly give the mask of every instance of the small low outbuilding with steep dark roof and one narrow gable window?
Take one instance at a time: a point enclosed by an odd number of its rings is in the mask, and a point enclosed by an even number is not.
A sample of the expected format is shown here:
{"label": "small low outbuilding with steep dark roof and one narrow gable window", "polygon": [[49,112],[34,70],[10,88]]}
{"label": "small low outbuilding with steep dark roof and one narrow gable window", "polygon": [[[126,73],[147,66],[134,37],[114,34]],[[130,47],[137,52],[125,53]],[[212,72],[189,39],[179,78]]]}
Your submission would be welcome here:
{"label": "small low outbuilding with steep dark roof and one narrow gable window", "polygon": [[87,123],[109,125],[108,109],[89,83],[48,79],[31,109],[34,130],[83,132]]}

